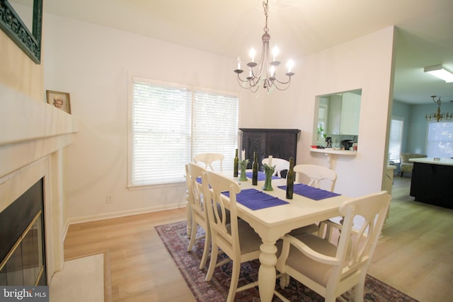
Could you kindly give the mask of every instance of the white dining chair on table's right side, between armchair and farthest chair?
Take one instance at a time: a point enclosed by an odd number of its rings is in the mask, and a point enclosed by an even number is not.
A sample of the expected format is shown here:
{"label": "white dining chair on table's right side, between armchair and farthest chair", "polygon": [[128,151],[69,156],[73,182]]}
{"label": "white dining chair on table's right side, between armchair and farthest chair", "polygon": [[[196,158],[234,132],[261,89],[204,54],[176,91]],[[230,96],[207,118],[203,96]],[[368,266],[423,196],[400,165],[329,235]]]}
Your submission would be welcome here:
{"label": "white dining chair on table's right side, between armchair and farthest chair", "polygon": [[[294,165],[294,174],[296,175],[295,181],[302,182],[311,187],[333,192],[335,182],[337,180],[337,173],[334,170],[323,167],[322,165],[300,164]],[[326,229],[326,232],[324,232]],[[319,236],[331,238],[332,228],[327,223],[320,221],[318,224],[313,223],[309,226],[303,226],[291,231],[292,236],[301,233],[319,233]],[[325,234],[324,234],[325,233]]]}

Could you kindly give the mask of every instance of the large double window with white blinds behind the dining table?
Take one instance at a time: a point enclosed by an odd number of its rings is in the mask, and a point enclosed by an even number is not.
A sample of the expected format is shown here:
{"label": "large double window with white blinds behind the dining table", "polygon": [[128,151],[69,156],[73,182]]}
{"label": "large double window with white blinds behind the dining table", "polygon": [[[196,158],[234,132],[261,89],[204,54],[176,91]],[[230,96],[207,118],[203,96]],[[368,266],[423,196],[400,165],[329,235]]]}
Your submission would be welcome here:
{"label": "large double window with white blinds behind the dining table", "polygon": [[231,93],[133,77],[128,185],[184,182],[197,153],[222,153],[232,170],[238,103]]}

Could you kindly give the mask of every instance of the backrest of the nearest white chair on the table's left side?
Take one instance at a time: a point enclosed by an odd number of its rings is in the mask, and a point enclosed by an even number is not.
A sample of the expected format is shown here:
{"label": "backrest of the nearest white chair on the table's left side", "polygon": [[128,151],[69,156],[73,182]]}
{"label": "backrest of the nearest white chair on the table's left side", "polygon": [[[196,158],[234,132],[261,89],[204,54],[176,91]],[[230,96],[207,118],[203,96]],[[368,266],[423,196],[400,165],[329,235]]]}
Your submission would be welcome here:
{"label": "backrest of the nearest white chair on the table's left side", "polygon": [[[229,178],[207,170],[202,176],[203,196],[206,203],[208,219],[212,233],[212,240],[216,237],[217,245],[226,255],[236,255],[239,259],[241,249],[239,245],[238,219],[236,210],[236,194],[241,187]],[[222,192],[229,192],[225,197]],[[229,198],[230,225],[227,227],[224,199]]]}

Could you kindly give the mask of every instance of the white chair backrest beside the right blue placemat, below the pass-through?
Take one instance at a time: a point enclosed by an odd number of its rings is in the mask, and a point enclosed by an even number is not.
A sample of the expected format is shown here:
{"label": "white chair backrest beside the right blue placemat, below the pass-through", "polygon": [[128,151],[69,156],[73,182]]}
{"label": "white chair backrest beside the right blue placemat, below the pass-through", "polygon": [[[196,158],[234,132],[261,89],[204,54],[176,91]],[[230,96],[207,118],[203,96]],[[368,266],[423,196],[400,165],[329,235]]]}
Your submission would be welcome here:
{"label": "white chair backrest beside the right blue placemat, below the pass-through", "polygon": [[[322,165],[294,165],[294,173],[296,173],[296,182],[301,182],[300,173],[302,173],[310,179],[307,185],[319,187],[331,192],[333,192],[337,180],[337,173]],[[323,182],[326,182],[327,184],[324,184]]]}

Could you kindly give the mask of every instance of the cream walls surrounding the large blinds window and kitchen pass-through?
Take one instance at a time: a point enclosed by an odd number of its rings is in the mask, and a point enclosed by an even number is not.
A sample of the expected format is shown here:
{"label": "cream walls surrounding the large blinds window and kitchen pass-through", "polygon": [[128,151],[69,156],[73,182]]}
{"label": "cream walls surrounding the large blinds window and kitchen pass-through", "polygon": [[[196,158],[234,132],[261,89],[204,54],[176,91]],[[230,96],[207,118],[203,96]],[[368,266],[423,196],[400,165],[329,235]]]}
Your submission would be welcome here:
{"label": "cream walls surrounding the large blinds window and kitchen pass-through", "polygon": [[[362,88],[359,153],[339,158],[338,192],[380,190],[393,28],[297,60],[288,91],[239,88],[226,58],[98,25],[45,15],[45,89],[71,93],[79,134],[67,150],[70,221],[134,214],[185,204],[185,184],[126,188],[127,79],[134,74],[240,93],[239,127],[298,128],[297,162],[326,165],[309,153],[316,95]],[[182,171],[183,173],[183,171]],[[367,179],[365,179],[367,175]],[[107,194],[113,203],[107,204]]]}

